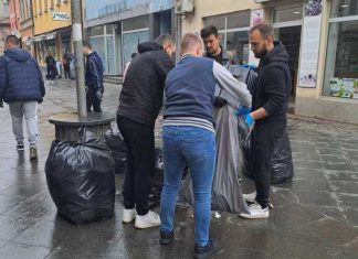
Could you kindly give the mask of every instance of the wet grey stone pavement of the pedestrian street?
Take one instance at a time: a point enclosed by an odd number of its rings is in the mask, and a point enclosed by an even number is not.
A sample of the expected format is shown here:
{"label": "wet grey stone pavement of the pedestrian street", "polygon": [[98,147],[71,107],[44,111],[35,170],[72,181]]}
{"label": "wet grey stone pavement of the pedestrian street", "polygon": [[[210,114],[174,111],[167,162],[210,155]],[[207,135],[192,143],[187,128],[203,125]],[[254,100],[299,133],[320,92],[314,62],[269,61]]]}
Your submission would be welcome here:
{"label": "wet grey stone pavement of the pedestrian street", "polygon": [[[135,230],[122,224],[118,195],[115,217],[74,226],[56,215],[44,163],[54,139],[51,115],[76,111],[73,82],[46,85],[40,105],[36,163],[15,151],[8,108],[0,110],[0,258],[192,258],[191,212],[179,208],[176,240],[160,247],[158,229]],[[119,87],[107,85],[104,110],[115,114]],[[160,145],[160,122],[157,144]],[[273,187],[275,208],[265,220],[223,214],[211,231],[222,250],[214,258],[358,258],[358,128],[289,120],[295,177]],[[122,177],[117,177],[120,192]],[[243,190],[252,183],[244,180]]]}

